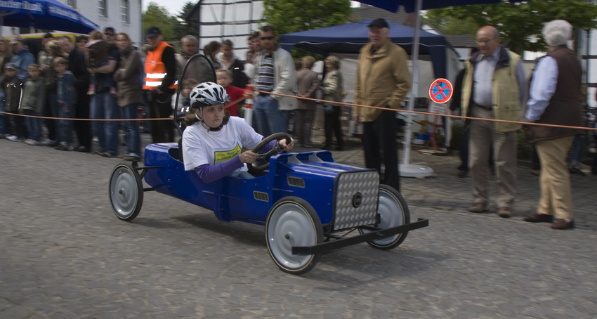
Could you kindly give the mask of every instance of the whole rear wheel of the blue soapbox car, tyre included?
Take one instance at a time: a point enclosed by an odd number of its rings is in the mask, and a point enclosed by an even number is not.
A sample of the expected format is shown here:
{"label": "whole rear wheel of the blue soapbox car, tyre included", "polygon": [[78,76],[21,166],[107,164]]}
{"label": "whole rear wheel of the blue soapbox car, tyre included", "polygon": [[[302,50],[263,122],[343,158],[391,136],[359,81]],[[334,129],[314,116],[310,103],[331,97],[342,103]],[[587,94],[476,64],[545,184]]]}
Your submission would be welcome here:
{"label": "whole rear wheel of the blue soapbox car, tyre included", "polygon": [[143,181],[130,163],[118,164],[110,175],[110,202],[119,219],[132,221],[143,205]]}

